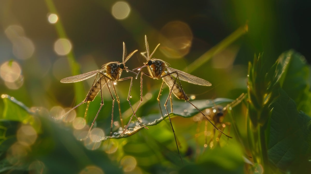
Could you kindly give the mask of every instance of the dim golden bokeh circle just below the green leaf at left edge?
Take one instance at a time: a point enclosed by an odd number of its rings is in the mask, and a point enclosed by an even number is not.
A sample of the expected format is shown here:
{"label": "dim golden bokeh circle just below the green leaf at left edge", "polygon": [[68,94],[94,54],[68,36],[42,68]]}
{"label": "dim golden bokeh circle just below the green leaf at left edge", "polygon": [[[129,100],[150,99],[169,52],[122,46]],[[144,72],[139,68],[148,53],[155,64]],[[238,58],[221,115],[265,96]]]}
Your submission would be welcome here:
{"label": "dim golden bokeh circle just below the green leaf at left edge", "polygon": [[33,145],[37,137],[37,132],[30,125],[22,125],[16,132],[17,141],[25,146]]}

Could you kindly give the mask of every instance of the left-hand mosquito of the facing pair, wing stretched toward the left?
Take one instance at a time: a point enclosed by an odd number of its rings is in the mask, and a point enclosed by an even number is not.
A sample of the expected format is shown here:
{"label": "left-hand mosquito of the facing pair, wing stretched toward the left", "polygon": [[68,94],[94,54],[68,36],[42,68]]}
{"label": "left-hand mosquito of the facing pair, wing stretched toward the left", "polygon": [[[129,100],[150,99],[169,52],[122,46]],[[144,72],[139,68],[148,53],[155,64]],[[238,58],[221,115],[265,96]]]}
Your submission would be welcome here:
{"label": "left-hand mosquito of the facing pair, wing stretched toward the left", "polygon": [[[120,109],[120,100],[119,100],[119,97],[117,95],[117,92],[115,90],[115,83],[118,82],[118,81],[123,81],[123,80],[127,80],[127,79],[130,79],[131,80],[131,84],[130,84],[130,88],[129,88],[129,91],[128,91],[128,98],[127,98],[127,101],[130,105],[130,107],[132,108],[132,104],[130,102],[130,93],[131,93],[131,89],[132,89],[132,82],[133,82],[133,77],[125,77],[125,78],[120,78],[121,74],[122,74],[122,71],[125,70],[126,72],[132,72],[134,74],[137,74],[131,70],[128,69],[128,67],[125,66],[125,63],[130,59],[130,57],[133,56],[133,54],[138,51],[138,50],[135,50],[133,52],[131,52],[128,56],[127,56],[127,51],[126,51],[126,46],[125,46],[125,43],[123,42],[123,55],[122,55],[122,63],[118,62],[118,61],[113,61],[113,62],[109,62],[107,64],[104,64],[102,66],[102,69],[98,69],[98,70],[95,70],[95,71],[91,71],[91,72],[87,72],[87,73],[84,73],[84,74],[79,74],[79,75],[75,75],[75,76],[71,76],[71,77],[67,77],[67,78],[63,78],[60,82],[62,83],[74,83],[74,82],[80,82],[82,80],[86,80],[88,78],[91,78],[93,76],[95,76],[95,79],[94,79],[94,82],[92,84],[92,87],[90,89],[90,91],[88,92],[88,94],[86,95],[86,98],[80,103],[78,104],[77,106],[73,107],[72,109],[70,109],[66,114],[64,114],[63,116],[67,115],[69,112],[71,112],[73,109],[76,109],[78,106],[84,104],[84,103],[87,103],[87,106],[86,106],[86,111],[85,111],[85,114],[84,114],[84,119],[86,118],[86,114],[87,114],[87,110],[89,108],[89,104],[91,101],[94,100],[95,96],[98,95],[98,93],[100,92],[100,96],[101,96],[101,103],[100,103],[100,108],[94,118],[94,121],[93,123],[91,124],[91,127],[89,129],[89,132],[91,131],[94,123],[95,123],[95,120],[100,112],[100,109],[102,108],[102,106],[104,105],[104,100],[103,100],[103,92],[102,92],[102,88],[109,82],[111,81],[111,84],[112,84],[112,87],[113,87],[113,90],[114,90],[114,94],[117,98],[117,102],[118,102],[118,107],[119,107],[119,114],[120,114],[120,121],[121,121],[121,125],[123,127],[123,120],[122,120],[122,116],[121,116],[121,109]],[[99,75],[99,78],[97,79],[97,75]],[[97,81],[96,81],[97,79]],[[112,125],[113,125],[113,117],[114,117],[114,97],[111,93],[111,90],[109,88],[109,86],[107,85],[108,87],[108,91],[111,95],[111,98],[112,98],[112,114],[111,114],[111,125],[110,125],[110,137],[112,135]],[[132,111],[133,111],[133,115],[135,115],[135,117],[137,118],[133,108],[132,108]],[[63,117],[62,116],[62,117]],[[139,119],[137,118],[137,121],[143,126],[145,127],[140,121]],[[146,129],[148,129],[147,127],[145,127]]]}

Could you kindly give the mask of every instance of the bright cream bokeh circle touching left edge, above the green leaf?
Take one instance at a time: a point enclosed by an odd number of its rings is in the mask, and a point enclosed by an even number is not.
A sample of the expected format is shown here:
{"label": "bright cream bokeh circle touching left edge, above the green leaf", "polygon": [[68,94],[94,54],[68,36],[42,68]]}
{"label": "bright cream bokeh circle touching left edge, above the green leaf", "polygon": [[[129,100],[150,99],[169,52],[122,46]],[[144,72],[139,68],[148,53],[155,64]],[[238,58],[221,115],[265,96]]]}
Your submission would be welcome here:
{"label": "bright cream bokeh circle touching left edge, above the green leaf", "polygon": [[0,77],[5,82],[14,82],[21,76],[21,66],[16,61],[6,61],[0,66]]}

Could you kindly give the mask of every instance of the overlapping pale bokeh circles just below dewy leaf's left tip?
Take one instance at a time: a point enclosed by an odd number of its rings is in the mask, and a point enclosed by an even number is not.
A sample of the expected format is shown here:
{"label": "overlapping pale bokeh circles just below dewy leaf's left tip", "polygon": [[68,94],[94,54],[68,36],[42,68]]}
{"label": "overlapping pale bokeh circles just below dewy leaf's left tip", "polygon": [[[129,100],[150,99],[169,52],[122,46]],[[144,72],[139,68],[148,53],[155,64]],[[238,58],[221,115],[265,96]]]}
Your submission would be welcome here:
{"label": "overlapping pale bokeh circles just below dewy leaf's left tip", "polygon": [[100,128],[93,128],[89,132],[86,140],[84,140],[84,146],[86,149],[95,150],[98,149],[101,145],[101,141],[104,139],[104,131]]}

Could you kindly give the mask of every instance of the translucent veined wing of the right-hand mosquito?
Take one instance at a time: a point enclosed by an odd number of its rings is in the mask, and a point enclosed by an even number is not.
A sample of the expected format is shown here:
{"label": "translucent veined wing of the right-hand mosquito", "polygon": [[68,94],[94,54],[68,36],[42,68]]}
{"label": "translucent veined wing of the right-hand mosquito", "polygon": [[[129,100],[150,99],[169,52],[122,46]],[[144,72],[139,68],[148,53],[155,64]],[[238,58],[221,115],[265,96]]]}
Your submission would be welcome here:
{"label": "translucent veined wing of the right-hand mosquito", "polygon": [[167,69],[167,72],[168,73],[172,73],[171,75],[176,77],[177,74],[176,73],[173,73],[173,72],[177,72],[178,73],[178,77],[180,80],[183,80],[183,81],[186,81],[188,83],[193,83],[193,84],[196,84],[196,85],[202,85],[202,86],[211,86],[212,84],[209,83],[208,81],[202,79],[202,78],[198,78],[194,75],[191,75],[191,74],[188,74],[188,73],[185,73],[183,71],[180,71],[178,69],[174,69],[174,68],[171,68],[171,67],[166,67]]}

